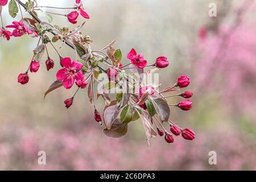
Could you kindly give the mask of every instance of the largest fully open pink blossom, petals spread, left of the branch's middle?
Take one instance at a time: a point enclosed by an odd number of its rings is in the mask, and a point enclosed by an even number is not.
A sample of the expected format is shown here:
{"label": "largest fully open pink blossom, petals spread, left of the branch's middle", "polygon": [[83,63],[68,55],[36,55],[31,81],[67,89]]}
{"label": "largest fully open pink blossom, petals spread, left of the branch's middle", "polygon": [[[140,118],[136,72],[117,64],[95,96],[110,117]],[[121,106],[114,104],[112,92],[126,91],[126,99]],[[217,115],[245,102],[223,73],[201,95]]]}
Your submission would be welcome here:
{"label": "largest fully open pink blossom, petals spread, left of the branch's middle", "polygon": [[63,65],[63,69],[60,69],[56,77],[58,80],[63,80],[63,86],[65,89],[70,89],[75,80],[84,80],[84,74],[80,69],[84,67],[83,64],[77,61],[71,61],[69,57],[61,59],[60,64]]}

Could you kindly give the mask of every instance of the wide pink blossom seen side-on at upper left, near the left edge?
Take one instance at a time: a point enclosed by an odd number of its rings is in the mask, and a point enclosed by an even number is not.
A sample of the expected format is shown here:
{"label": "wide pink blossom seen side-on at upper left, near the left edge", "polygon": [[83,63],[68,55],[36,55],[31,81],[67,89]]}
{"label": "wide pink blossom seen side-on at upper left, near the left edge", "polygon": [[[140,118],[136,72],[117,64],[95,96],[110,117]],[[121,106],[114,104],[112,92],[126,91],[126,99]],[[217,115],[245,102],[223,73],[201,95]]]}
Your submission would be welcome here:
{"label": "wide pink blossom seen side-on at upper left, near the left edge", "polygon": [[13,36],[15,37],[19,37],[22,36],[24,34],[34,34],[35,36],[38,36],[38,32],[37,31],[33,31],[33,30],[29,30],[26,26],[26,24],[24,24],[22,22],[22,20],[20,21],[14,21],[13,24],[7,25],[7,28],[15,28],[15,30],[13,31]]}

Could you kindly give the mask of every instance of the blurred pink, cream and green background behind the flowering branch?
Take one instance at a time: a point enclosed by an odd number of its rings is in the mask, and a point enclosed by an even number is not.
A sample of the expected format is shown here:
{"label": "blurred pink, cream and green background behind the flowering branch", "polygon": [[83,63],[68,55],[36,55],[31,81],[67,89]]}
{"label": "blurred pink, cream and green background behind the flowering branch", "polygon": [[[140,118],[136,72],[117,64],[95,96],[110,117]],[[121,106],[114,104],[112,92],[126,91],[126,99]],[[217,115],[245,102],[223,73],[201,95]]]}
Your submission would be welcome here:
{"label": "blurred pink, cream and green background behind the flowering branch", "polygon": [[[208,15],[212,2],[217,5],[213,18]],[[73,4],[60,0],[38,3]],[[18,74],[30,63],[35,39],[0,39],[0,169],[256,169],[255,1],[86,0],[84,4],[91,19],[82,31],[94,40],[93,49],[117,39],[115,47],[124,54],[133,47],[150,63],[166,55],[171,65],[160,71],[163,88],[180,75],[191,77],[187,89],[195,94],[193,109],[172,109],[172,120],[195,130],[196,139],[177,137],[174,144],[167,144],[157,137],[148,146],[140,121],[131,123],[123,138],[106,137],[93,119],[86,90],[78,93],[70,109],[63,102],[75,90],[61,88],[43,100],[59,69],[56,64],[47,72],[46,57],[39,72],[30,74],[27,85],[18,84]],[[13,21],[7,7],[3,17],[5,24]],[[53,21],[75,27],[62,17],[54,16]],[[57,62],[55,52],[49,52]],[[68,47],[60,52],[75,59]],[[104,101],[99,100],[97,106],[102,109]],[[47,155],[47,164],[42,166],[38,164],[41,150]],[[217,152],[217,165],[208,163],[209,151]]]}

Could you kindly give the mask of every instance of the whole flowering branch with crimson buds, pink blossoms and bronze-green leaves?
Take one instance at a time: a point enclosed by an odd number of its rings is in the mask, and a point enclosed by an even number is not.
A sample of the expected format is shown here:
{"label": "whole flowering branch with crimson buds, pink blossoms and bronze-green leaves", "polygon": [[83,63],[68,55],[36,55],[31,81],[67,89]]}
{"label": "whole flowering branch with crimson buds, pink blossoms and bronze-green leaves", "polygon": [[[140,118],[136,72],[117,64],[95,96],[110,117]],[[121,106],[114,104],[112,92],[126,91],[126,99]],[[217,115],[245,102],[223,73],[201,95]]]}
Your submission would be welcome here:
{"label": "whole flowering branch with crimson buds, pink blossoms and bronze-green leaves", "polygon": [[[13,24],[6,27],[2,25],[2,28],[0,29],[0,37],[7,40],[10,39],[10,36],[20,37],[23,35],[30,35],[33,38],[37,38],[39,36],[40,38],[38,46],[33,51],[34,55],[32,57],[32,61],[29,63],[27,71],[20,73],[18,76],[18,82],[20,84],[24,85],[29,81],[30,77],[28,76],[28,71],[38,72],[40,68],[40,61],[45,49],[48,57],[46,60],[47,71],[49,71],[49,69],[53,69],[55,63],[49,57],[49,52],[47,51],[47,44],[49,43],[60,57],[61,68],[56,72],[57,80],[49,87],[46,94],[60,88],[60,86],[63,86],[65,89],[71,89],[73,85],[76,85],[75,87],[77,90],[75,94],[73,94],[73,97],[64,101],[65,107],[68,109],[72,106],[76,93],[79,90],[85,89],[89,84],[88,98],[90,104],[94,107],[94,119],[96,122],[100,123],[103,119],[102,123],[104,123],[105,127],[103,129],[104,134],[114,138],[122,137],[127,133],[127,125],[131,121],[141,118],[148,142],[150,138],[157,135],[155,128],[160,136],[164,136],[167,143],[174,143],[174,136],[177,137],[180,134],[184,139],[195,139],[195,132],[193,130],[181,129],[181,127],[177,126],[170,120],[170,106],[176,106],[182,110],[190,110],[192,109],[192,102],[190,100],[184,100],[180,101],[178,104],[168,104],[166,100],[166,98],[175,96],[186,99],[191,98],[193,93],[185,91],[172,96],[164,96],[166,93],[180,90],[177,87],[187,87],[190,84],[190,78],[188,76],[180,76],[177,78],[174,86],[159,92],[158,86],[144,83],[140,74],[129,74],[125,71],[126,69],[130,69],[131,72],[137,71],[138,73],[144,73],[144,75],[147,76],[149,73],[158,71],[156,68],[167,68],[169,66],[170,63],[166,56],[159,56],[153,64],[148,65],[148,61],[144,59],[143,54],[137,53],[134,48],[131,48],[130,52],[127,53],[126,56],[127,59],[130,60],[130,63],[123,65],[121,63],[122,52],[120,49],[115,49],[113,47],[114,42],[100,49],[101,51],[93,51],[91,49],[90,44],[92,43],[92,40],[90,40],[88,35],[83,36],[81,32],[81,28],[85,23],[81,24],[74,30],[69,30],[69,27],[67,26],[60,28],[59,26],[53,26],[50,23],[42,22],[38,16],[35,16],[34,12],[38,10],[39,6],[37,3],[34,3],[34,1],[31,1],[32,4],[30,6],[24,5],[20,1],[14,1],[14,3],[19,3],[23,6],[24,9],[26,9],[26,11],[28,11],[38,22],[35,23],[34,19],[23,18],[22,16],[21,20],[15,20]],[[5,6],[6,4],[7,0],[0,0],[0,6]],[[49,8],[54,9],[58,7]],[[89,19],[89,15],[84,11],[84,5],[81,0],[76,0],[75,6],[72,8],[65,9],[73,9],[73,11],[68,14],[52,14],[62,15],[73,24],[77,23],[79,13],[84,18]],[[12,11],[16,10],[13,10],[12,6],[9,6],[10,15],[14,16],[14,13],[16,12],[12,13]],[[6,30],[6,28],[14,28],[14,30],[13,32],[10,32]],[[52,39],[49,38],[49,33],[53,34]],[[75,60],[72,60],[68,56],[60,56],[59,51],[57,51],[53,45],[53,43],[59,40],[75,49]],[[106,52],[104,50],[106,50]],[[146,67],[156,68],[144,71]],[[107,89],[105,88],[105,85],[102,84],[103,86],[101,86],[101,89],[97,90],[97,98],[102,96],[106,104],[103,118],[101,118],[100,112],[96,109],[93,91],[93,84],[98,81],[98,76],[100,74],[106,74],[109,80],[108,84],[111,85],[114,82],[114,88],[121,90],[121,93],[116,94],[115,100],[110,99],[109,94],[106,93]],[[130,86],[132,89],[129,89],[129,93],[125,92],[125,88],[130,88]],[[170,131],[174,135],[167,132],[164,128],[164,123],[168,123],[168,125],[170,125]]]}

